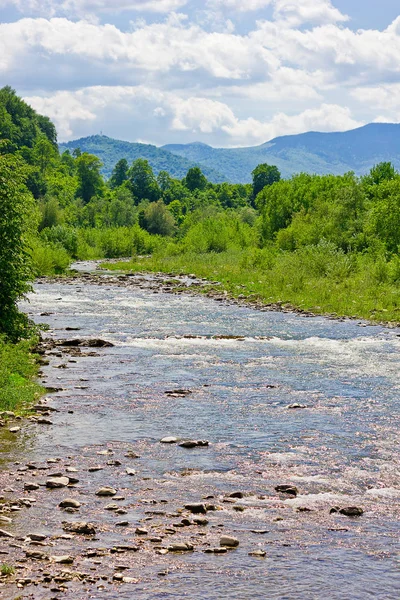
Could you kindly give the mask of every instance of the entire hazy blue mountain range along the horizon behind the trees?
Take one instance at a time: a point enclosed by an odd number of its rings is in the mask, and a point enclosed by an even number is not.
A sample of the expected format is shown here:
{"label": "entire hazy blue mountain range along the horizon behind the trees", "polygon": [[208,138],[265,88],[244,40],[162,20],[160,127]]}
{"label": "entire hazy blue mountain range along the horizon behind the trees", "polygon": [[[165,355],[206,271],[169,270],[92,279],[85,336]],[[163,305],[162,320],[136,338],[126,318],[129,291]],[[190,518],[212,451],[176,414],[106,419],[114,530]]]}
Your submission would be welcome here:
{"label": "entire hazy blue mountain range along the horizon behind the trees", "polygon": [[199,142],[157,148],[101,135],[60,144],[61,151],[78,147],[102,160],[107,177],[121,158],[128,162],[147,158],[156,174],[165,170],[179,179],[198,165],[214,183],[250,182],[252,170],[265,162],[276,165],[283,177],[300,172],[340,175],[355,171],[362,175],[382,161],[390,161],[400,170],[400,125],[390,123],[339,133],[286,135],[250,148],[212,148]]}

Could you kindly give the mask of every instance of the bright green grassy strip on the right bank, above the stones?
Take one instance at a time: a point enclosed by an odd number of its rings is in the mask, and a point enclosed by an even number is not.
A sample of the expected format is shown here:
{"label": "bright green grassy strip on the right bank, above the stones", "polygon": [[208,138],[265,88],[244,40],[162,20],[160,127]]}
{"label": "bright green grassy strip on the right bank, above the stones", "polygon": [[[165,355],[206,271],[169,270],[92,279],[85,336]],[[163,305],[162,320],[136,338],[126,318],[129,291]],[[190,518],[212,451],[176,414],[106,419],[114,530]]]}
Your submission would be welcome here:
{"label": "bright green grassy strip on the right bank, above the stones", "polygon": [[193,273],[222,283],[229,296],[283,303],[315,314],[400,323],[398,258],[348,255],[329,245],[298,252],[273,249],[183,253],[105,264],[129,272]]}

